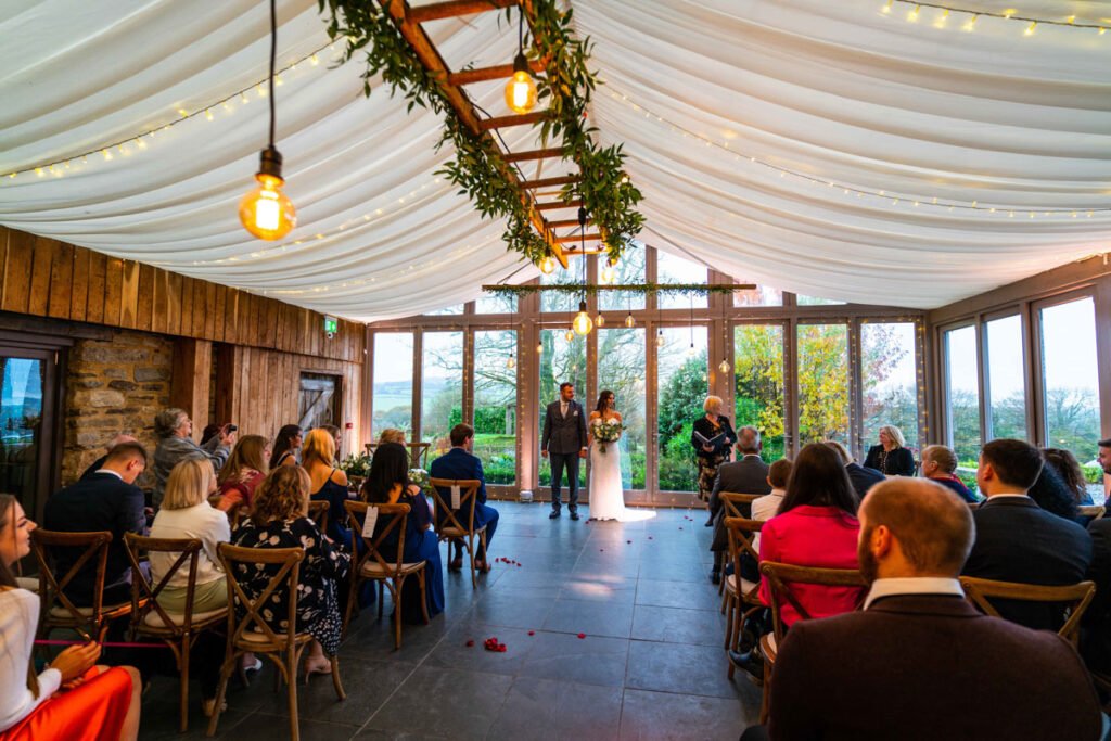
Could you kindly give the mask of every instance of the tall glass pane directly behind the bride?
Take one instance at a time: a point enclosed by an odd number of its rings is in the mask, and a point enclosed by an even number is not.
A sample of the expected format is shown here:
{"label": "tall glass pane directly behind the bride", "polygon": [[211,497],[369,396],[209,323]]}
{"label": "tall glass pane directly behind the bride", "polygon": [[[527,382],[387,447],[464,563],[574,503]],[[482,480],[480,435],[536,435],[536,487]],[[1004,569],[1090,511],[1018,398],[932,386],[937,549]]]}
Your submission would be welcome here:
{"label": "tall glass pane directly behind the bride", "polygon": [[[644,488],[644,455],[648,447],[644,425],[644,330],[602,329],[598,331],[598,395],[613,392],[625,431],[621,451],[621,485]],[[593,402],[597,404],[597,399]],[[591,409],[591,405],[587,405]]]}

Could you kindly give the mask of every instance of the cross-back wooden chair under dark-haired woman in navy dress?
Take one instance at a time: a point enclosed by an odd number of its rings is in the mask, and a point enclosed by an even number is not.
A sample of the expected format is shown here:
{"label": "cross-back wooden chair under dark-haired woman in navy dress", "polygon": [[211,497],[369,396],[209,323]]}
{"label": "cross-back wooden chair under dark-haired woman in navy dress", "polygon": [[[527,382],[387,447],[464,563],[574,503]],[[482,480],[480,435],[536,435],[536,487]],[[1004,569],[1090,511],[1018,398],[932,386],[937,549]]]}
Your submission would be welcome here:
{"label": "cross-back wooden chair under dark-haired woman in navy dress", "polygon": [[[393,648],[401,648],[401,590],[406,579],[416,575],[420,583],[420,607],[424,613],[424,622],[429,622],[428,617],[428,585],[424,582],[424,567],[427,561],[414,561],[407,563],[406,555],[406,527],[409,522],[409,504],[399,502],[397,504],[371,504],[368,502],[347,501],[343,502],[347,509],[348,527],[351,528],[351,553],[358,553],[354,568],[351,570],[351,593],[348,595],[347,611],[343,614],[343,632],[347,633],[348,624],[351,622],[351,612],[359,599],[359,587],[364,581],[378,582],[378,618],[382,618],[382,593],[383,584],[389,588],[390,597],[393,599]],[[363,534],[363,525],[367,522],[368,512],[374,509],[376,527],[371,535]],[[361,538],[366,548],[359,552],[356,539]],[[396,543],[391,543],[392,538],[397,538]]]}

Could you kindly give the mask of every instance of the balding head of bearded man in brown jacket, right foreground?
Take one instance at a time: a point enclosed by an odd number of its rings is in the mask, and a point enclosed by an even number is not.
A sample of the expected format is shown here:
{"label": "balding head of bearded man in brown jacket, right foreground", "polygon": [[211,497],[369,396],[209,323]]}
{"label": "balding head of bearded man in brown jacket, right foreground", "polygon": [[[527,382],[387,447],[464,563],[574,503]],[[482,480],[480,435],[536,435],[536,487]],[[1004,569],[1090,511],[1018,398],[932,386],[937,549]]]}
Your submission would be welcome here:
{"label": "balding head of bearded man in brown jacket, right foreground", "polygon": [[875,484],[860,507],[860,570],[884,577],[955,578],[968,559],[975,525],[968,504],[928,479]]}

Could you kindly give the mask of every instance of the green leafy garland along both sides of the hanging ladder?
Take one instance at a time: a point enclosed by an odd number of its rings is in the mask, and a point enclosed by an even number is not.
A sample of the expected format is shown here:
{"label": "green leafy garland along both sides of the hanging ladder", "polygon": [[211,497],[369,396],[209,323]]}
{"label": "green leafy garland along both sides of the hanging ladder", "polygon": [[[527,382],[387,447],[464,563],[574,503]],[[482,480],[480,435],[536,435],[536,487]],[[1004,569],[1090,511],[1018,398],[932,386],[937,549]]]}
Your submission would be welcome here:
{"label": "green leafy garland along both sides of the hanging ladder", "polygon": [[[328,33],[347,41],[343,61],[364,52],[363,93],[370,96],[371,80],[381,74],[391,93],[401,92],[409,110],[421,106],[443,117],[444,128],[437,148],[451,142],[456,157],[437,172],[459,187],[483,218],[504,218],[502,239],[509,250],[534,263],[548,257],[544,237],[532,227],[531,211],[511,180],[511,170],[490,137],[470,131],[456,114],[444,92],[446,80],[433,74],[417,59],[398,23],[378,2],[370,0],[318,0],[330,18]],[[590,40],[578,39],[571,28],[572,11],[557,8],[554,0],[534,0],[531,29],[533,43],[528,56],[544,61],[537,82],[538,101],[547,102],[540,133],[544,140],[560,140],[563,157],[575,162],[580,181],[565,186],[564,202],[579,197],[599,227],[607,252],[617,261],[625,244],[641,229],[644,217],[637,210],[643,198],[624,174],[621,146],[599,147],[593,127],[584,123],[587,104],[598,84],[590,71]],[[507,9],[511,19],[512,8]]]}

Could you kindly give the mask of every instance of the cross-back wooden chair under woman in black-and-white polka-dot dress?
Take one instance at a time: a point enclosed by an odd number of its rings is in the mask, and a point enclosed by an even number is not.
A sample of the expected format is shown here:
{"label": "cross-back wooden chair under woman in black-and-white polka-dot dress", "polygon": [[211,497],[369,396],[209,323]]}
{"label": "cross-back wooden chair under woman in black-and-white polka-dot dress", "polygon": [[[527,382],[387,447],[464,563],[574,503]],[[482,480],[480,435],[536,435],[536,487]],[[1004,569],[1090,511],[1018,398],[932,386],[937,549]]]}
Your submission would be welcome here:
{"label": "cross-back wooden chair under woman in black-and-white polka-dot dress", "polygon": [[[208,735],[214,735],[217,723],[220,722],[220,711],[224,693],[228,690],[228,679],[240,663],[244,653],[264,655],[278,668],[278,679],[287,684],[289,701],[290,738],[300,739],[300,725],[297,714],[297,667],[301,653],[312,641],[310,633],[297,630],[297,585],[300,579],[301,561],[304,560],[302,548],[240,548],[229,543],[218,547],[220,563],[228,578],[228,648],[223,664],[220,668],[220,683],[217,688],[212,718],[209,719]],[[243,591],[237,574],[240,564],[264,564],[278,570],[270,575],[266,588],[258,597],[250,597]],[[284,592],[287,598],[286,630],[276,631],[263,618],[263,610],[273,610],[272,598]],[[279,615],[274,615],[277,622]],[[338,657],[329,657],[332,664],[332,685],[340,700],[347,699],[343,684],[340,681],[340,664]]]}

